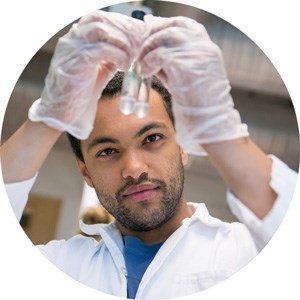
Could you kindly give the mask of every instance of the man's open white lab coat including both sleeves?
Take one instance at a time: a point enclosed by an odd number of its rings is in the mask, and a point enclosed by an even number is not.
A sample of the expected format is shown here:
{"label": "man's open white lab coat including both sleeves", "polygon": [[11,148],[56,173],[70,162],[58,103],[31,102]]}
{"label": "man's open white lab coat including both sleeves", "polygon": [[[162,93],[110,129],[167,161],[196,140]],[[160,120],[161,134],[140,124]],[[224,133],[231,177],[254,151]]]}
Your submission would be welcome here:
{"label": "man's open white lab coat including both sleeves", "polygon": [[[228,278],[249,261],[277,230],[292,198],[297,174],[272,156],[271,186],[278,194],[264,220],[259,220],[233,194],[228,194],[232,211],[246,225],[226,223],[209,215],[205,205],[189,203],[196,211],[184,219],[163,244],[146,270],[136,298],[166,299],[187,296]],[[18,217],[34,179],[7,185],[8,196]],[[93,238],[75,236],[38,246],[59,269],[81,283],[115,296],[126,298],[126,267],[123,241],[115,223],[86,225],[81,229],[100,234]],[[250,234],[251,232],[251,234]]]}

